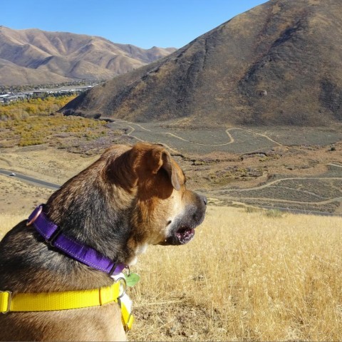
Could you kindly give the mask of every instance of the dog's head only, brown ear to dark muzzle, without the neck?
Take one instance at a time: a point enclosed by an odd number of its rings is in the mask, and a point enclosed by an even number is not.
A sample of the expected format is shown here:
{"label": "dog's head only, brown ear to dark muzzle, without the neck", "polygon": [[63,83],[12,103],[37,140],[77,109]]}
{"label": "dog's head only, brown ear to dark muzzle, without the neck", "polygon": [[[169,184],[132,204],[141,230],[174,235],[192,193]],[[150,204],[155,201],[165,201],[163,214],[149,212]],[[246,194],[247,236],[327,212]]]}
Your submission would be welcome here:
{"label": "dog's head only, brown ear to dark muzzle, without the neck", "polygon": [[[112,147],[107,153],[117,149]],[[118,163],[126,165],[125,180],[118,179]],[[190,242],[195,227],[204,219],[207,199],[187,190],[182,169],[165,147],[140,142],[115,158],[108,170],[110,177],[114,175],[116,182],[128,184],[126,190],[134,192],[132,224],[140,242]]]}

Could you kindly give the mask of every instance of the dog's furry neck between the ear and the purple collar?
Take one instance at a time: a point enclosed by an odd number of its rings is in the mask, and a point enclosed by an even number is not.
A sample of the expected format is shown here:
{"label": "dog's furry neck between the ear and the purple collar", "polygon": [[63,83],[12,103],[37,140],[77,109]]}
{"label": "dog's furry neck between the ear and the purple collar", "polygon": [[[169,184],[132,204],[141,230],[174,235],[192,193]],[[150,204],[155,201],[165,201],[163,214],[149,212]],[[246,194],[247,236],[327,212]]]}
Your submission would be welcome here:
{"label": "dog's furry neck between the ear and the purple collar", "polygon": [[123,191],[85,170],[51,195],[46,215],[78,242],[115,262],[134,264],[141,250],[130,222],[134,207],[134,190]]}

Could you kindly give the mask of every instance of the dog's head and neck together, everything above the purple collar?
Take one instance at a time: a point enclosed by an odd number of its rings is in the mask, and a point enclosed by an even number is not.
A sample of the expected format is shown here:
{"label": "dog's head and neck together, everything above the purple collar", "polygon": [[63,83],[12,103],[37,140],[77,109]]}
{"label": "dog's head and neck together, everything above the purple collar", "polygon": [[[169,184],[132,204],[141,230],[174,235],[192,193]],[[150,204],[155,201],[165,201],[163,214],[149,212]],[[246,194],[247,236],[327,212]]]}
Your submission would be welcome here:
{"label": "dog's head and neck together, everything above the purple collar", "polygon": [[[207,206],[206,197],[187,190],[184,173],[165,147],[142,142],[108,148],[55,194],[48,201],[54,222],[128,263],[148,244],[190,242]],[[120,244],[128,252],[120,253]]]}

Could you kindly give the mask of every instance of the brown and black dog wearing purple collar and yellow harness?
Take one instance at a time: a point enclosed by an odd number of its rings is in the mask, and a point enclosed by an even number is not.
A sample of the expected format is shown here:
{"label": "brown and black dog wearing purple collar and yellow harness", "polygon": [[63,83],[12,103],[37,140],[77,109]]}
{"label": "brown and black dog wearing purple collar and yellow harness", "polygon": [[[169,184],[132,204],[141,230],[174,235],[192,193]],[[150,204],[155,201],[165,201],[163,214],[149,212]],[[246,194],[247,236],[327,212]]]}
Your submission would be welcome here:
{"label": "brown and black dog wearing purple collar and yellow harness", "polygon": [[[0,242],[0,291],[9,301],[4,310],[19,294],[76,293],[115,283],[108,270],[73,259],[56,248],[56,240],[45,239],[35,227],[39,219],[114,265],[133,265],[150,244],[182,245],[194,237],[207,198],[187,190],[185,182],[162,145],[109,147]],[[119,304],[120,299],[82,309],[5,312],[0,340],[124,341]]]}

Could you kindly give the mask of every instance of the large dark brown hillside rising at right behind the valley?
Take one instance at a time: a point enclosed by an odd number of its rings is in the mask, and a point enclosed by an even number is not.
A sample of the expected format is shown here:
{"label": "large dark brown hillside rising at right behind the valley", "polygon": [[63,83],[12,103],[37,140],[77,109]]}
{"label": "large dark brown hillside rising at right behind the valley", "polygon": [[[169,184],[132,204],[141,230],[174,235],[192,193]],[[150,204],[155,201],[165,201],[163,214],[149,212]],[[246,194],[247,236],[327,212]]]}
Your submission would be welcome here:
{"label": "large dark brown hillside rising at right behind the valley", "polygon": [[201,125],[341,123],[341,41],[341,0],[271,0],[62,112]]}

